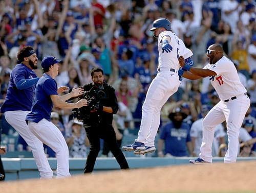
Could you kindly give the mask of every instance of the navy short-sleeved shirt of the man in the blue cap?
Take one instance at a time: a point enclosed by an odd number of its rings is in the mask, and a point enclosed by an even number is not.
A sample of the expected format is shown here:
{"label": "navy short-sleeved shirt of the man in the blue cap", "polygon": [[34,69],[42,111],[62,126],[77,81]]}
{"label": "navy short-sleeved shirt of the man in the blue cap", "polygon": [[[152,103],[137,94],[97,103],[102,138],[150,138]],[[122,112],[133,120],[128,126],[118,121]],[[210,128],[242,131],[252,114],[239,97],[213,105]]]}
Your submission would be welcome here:
{"label": "navy short-sleeved shirt of the man in the blue cap", "polygon": [[50,95],[52,94],[58,95],[57,83],[49,75],[44,74],[36,84],[32,111],[27,115],[26,120],[38,123],[45,118],[51,121],[53,103]]}

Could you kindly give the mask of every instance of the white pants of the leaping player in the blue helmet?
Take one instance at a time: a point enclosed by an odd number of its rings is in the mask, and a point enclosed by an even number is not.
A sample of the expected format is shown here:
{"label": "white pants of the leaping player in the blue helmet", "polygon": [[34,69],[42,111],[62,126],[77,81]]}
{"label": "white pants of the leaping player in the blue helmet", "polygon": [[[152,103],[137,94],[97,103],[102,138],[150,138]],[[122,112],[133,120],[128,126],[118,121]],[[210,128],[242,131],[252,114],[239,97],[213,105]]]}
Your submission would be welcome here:
{"label": "white pants of the leaping player in the blue helmet", "polygon": [[145,143],[145,146],[155,146],[155,137],[160,125],[160,111],[170,96],[180,85],[177,72],[162,70],[152,81],[146,93],[146,99],[142,106],[142,118],[137,142]]}

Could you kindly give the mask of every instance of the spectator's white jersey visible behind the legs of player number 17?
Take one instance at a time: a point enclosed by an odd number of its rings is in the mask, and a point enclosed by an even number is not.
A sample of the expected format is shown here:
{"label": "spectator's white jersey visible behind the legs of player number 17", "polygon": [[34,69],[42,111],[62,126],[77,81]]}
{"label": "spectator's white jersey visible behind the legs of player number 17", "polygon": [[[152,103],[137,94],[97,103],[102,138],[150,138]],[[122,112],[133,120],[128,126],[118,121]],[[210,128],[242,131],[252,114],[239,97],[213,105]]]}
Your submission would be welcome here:
{"label": "spectator's white jersey visible behind the legs of player number 17", "polygon": [[[226,135],[223,126],[217,125],[214,132],[214,140],[212,141],[212,156],[218,156],[219,141],[218,139]],[[196,120],[191,126],[190,137],[195,137],[194,152],[199,156],[200,147],[203,140],[203,118]]]}

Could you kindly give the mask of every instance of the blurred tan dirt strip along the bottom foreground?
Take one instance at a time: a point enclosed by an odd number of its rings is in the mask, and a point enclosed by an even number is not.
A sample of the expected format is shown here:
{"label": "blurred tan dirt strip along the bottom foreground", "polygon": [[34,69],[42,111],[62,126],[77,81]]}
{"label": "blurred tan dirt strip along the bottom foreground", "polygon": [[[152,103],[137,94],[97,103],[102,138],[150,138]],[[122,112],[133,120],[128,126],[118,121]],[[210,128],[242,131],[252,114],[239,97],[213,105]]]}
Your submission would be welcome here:
{"label": "blurred tan dirt strip along the bottom foreground", "polygon": [[256,192],[256,162],[180,165],[0,183],[0,192]]}

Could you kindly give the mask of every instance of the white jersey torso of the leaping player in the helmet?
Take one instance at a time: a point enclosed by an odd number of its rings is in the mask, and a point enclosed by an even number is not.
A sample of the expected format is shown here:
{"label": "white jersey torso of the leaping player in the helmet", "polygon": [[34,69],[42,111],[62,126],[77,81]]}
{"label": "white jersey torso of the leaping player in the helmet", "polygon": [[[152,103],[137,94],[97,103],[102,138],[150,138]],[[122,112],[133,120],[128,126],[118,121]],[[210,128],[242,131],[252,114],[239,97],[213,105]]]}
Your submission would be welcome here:
{"label": "white jersey torso of the leaping player in the helmet", "polygon": [[[170,51],[170,53],[162,53],[162,39],[164,36],[170,37],[169,44],[173,47],[173,51]],[[159,57],[158,57],[158,67],[169,69],[173,68],[178,70],[180,68],[180,64],[178,61],[178,58],[180,56],[179,51],[179,38],[170,31],[164,31],[159,34],[158,37],[158,51],[159,51]]]}

